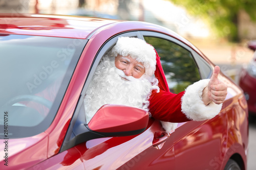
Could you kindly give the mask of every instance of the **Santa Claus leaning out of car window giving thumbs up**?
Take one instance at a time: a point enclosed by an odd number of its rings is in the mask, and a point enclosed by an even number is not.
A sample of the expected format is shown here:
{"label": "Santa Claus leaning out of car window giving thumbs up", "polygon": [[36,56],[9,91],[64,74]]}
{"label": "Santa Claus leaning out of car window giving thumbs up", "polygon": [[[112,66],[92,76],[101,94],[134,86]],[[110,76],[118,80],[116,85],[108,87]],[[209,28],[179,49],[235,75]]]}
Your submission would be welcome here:
{"label": "Santa Claus leaning out of car window giving thumbs up", "polygon": [[87,122],[105,104],[145,109],[166,131],[176,127],[173,123],[210,119],[220,112],[227,94],[219,71],[217,66],[211,79],[171,93],[154,47],[139,38],[119,37],[101,59],[84,96]]}

